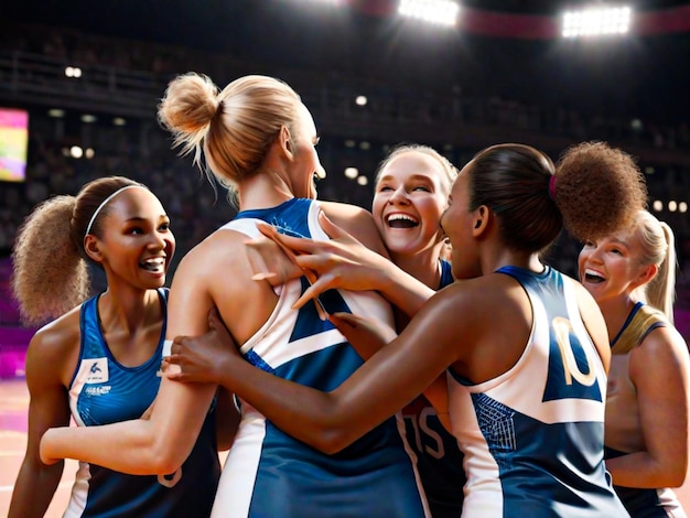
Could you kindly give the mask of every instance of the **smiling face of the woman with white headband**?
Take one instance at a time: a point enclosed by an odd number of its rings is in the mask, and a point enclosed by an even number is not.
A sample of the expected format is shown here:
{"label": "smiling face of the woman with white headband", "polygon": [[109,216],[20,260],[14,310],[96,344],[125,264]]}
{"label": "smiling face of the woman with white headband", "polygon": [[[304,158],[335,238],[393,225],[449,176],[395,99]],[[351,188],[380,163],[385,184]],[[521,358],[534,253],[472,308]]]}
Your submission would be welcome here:
{"label": "smiling face of the woman with white headband", "polygon": [[98,242],[108,283],[120,279],[140,289],[162,287],[175,237],[161,202],[145,188],[129,188],[108,205]]}

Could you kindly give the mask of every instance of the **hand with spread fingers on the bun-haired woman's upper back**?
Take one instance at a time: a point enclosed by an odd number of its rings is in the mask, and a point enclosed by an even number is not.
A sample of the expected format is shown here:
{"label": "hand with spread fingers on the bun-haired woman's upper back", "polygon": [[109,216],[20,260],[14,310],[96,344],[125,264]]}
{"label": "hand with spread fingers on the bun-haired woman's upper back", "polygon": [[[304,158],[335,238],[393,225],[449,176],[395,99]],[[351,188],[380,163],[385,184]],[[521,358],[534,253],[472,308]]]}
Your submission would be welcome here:
{"label": "hand with spread fingers on the bun-haired woman's upper back", "polygon": [[305,272],[312,284],[294,303],[295,309],[331,289],[376,290],[385,282],[390,266],[387,258],[369,250],[325,214],[320,213],[319,220],[331,240],[295,238],[279,234],[270,225],[258,226],[266,237],[291,250],[292,261]]}

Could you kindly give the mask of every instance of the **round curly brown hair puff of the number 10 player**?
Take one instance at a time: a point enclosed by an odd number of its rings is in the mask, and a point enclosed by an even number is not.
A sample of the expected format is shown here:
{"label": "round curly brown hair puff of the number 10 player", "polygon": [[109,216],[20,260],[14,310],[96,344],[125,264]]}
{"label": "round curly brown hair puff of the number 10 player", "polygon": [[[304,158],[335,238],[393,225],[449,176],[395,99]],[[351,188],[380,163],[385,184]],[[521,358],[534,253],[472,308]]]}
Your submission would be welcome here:
{"label": "round curly brown hair puff of the number 10 player", "polygon": [[647,185],[638,165],[606,142],[567,149],[556,174],[556,203],[565,227],[581,241],[628,228],[647,206]]}

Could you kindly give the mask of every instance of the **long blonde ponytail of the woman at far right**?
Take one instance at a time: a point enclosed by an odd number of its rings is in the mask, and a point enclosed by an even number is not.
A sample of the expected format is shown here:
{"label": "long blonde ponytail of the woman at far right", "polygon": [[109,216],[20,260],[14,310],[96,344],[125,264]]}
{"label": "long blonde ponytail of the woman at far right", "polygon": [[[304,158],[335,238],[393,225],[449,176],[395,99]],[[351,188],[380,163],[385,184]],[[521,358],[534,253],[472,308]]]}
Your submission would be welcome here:
{"label": "long blonde ponytail of the woman at far right", "polygon": [[656,276],[640,287],[649,305],[661,311],[669,322],[673,322],[676,299],[676,245],[671,228],[659,222],[648,211],[639,211],[633,224],[633,231],[642,245],[642,265],[656,265]]}

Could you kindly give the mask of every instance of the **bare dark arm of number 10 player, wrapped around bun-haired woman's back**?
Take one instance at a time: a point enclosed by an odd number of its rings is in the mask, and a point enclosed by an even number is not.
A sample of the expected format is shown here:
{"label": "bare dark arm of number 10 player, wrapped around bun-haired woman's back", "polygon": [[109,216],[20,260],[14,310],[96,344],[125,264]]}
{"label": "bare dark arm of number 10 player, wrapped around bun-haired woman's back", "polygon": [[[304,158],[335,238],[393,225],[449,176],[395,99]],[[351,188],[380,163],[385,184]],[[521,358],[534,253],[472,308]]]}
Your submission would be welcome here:
{"label": "bare dark arm of number 10 player, wrapped around bun-haired woman's back", "polygon": [[[448,290],[440,293],[390,346],[332,392],[265,373],[245,361],[233,347],[229,350],[234,354],[218,358],[217,380],[287,433],[321,451],[339,451],[411,401],[457,359],[454,337],[465,335],[465,326],[472,326],[473,320],[472,312],[463,313],[468,304],[455,299]],[[452,317],[459,312],[467,314],[467,320]],[[179,337],[175,342],[188,348],[198,341],[211,341],[218,348],[231,342],[222,326],[212,328],[216,331],[205,336]]]}

